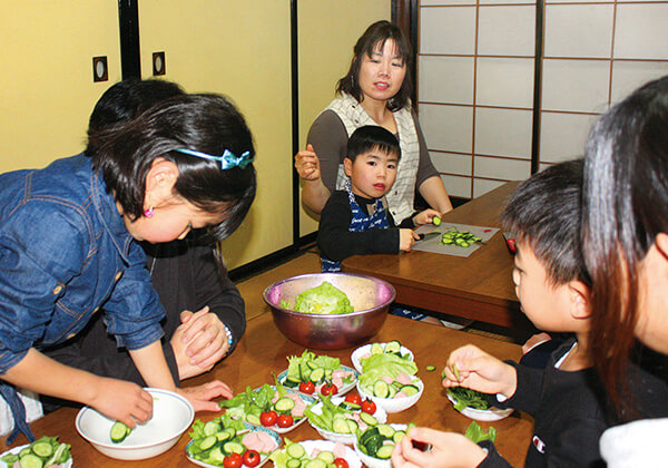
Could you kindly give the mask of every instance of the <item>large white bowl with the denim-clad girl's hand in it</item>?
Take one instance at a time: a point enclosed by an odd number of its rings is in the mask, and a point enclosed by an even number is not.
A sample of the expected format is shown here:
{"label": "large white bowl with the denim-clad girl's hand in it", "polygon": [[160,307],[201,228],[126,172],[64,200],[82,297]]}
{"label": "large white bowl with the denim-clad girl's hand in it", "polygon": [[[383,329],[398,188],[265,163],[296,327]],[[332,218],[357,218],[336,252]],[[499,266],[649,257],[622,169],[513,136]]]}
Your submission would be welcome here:
{"label": "large white bowl with the denim-clad girl's hand in it", "polygon": [[146,391],[154,398],[153,418],[132,429],[122,442],[114,443],[109,437],[115,421],[88,407],[77,415],[77,431],[101,454],[119,460],[143,460],[167,451],[190,427],[195,410],[180,394],[150,388]]}

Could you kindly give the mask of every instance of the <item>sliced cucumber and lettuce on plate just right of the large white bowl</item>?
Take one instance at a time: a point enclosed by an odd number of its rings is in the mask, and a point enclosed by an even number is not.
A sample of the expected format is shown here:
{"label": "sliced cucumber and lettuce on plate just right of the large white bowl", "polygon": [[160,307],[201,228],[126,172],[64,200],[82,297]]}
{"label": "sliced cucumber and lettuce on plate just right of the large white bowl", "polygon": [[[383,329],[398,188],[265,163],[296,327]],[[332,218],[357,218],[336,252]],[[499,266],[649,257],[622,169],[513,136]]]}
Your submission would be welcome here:
{"label": "sliced cucumber and lettuce on plate just right of the large white bowl", "polygon": [[246,447],[242,443],[246,427],[242,421],[235,421],[223,415],[207,423],[196,420],[188,433],[193,442],[188,445],[188,455],[205,464],[223,466],[225,457],[236,452],[242,455]]}

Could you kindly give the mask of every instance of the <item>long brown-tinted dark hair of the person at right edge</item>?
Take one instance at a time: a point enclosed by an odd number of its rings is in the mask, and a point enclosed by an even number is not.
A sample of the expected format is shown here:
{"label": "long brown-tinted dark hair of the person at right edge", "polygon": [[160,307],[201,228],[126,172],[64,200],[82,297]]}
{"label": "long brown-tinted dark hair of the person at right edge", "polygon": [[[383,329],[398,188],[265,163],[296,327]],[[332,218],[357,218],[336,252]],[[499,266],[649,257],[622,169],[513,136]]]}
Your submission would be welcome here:
{"label": "long brown-tinted dark hair of the person at right edge", "polygon": [[592,281],[591,349],[618,412],[638,322],[638,272],[668,232],[668,76],[606,113],[587,143],[582,246]]}

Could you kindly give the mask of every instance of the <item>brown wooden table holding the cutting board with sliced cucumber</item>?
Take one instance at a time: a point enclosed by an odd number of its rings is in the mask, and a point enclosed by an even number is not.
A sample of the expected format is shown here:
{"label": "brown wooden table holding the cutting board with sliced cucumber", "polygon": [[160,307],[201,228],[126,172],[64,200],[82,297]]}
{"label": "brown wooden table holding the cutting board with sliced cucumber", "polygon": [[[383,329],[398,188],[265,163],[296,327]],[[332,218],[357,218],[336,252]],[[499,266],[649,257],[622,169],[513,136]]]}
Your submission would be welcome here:
{"label": "brown wooden table holding the cutting board with sliced cucumber", "polygon": [[[504,201],[519,183],[509,182],[459,206],[443,222],[499,226]],[[502,232],[468,257],[412,251],[355,255],[343,271],[369,274],[396,289],[396,302],[507,328],[532,326],[520,311],[512,283],[513,260]]]}

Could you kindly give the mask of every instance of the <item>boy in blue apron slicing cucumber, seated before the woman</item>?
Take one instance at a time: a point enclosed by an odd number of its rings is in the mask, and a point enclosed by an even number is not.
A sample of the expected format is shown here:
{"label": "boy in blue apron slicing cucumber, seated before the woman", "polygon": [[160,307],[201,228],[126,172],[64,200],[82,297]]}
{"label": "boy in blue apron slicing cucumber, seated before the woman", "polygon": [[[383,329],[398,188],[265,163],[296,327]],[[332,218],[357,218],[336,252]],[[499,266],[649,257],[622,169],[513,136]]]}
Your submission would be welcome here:
{"label": "boy in blue apron slicing cucumber, seated before the woman", "polygon": [[399,142],[383,127],[366,125],[351,135],[343,162],[345,189],[332,194],[321,214],[323,272],[341,271],[341,262],[352,255],[409,252],[419,238],[413,228],[440,216],[425,209],[395,225],[383,198],[394,184],[400,157]]}

